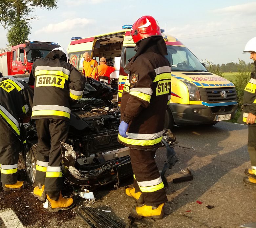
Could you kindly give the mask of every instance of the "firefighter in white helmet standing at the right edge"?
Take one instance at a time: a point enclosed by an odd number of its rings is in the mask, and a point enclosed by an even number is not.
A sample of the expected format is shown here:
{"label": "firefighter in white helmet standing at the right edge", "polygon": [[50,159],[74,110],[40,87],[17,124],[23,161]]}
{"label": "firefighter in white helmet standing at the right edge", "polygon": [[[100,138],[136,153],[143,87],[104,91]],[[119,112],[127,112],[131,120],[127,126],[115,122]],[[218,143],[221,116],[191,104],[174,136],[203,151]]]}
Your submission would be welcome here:
{"label": "firefighter in white helmet standing at the right edge", "polygon": [[251,160],[251,168],[245,169],[244,181],[256,185],[256,37],[245,45],[244,53],[249,52],[250,59],[254,61],[255,69],[244,90],[243,123],[248,124],[248,153]]}

